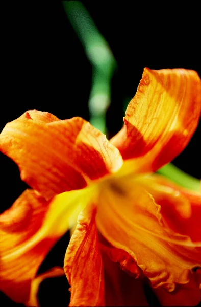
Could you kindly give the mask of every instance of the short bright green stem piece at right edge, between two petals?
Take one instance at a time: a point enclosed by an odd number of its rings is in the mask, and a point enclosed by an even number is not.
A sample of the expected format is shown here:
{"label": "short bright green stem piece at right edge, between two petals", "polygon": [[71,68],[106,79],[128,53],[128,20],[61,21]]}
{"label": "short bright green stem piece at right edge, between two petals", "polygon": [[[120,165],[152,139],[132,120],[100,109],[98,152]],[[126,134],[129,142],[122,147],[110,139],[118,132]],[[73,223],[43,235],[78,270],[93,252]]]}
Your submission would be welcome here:
{"label": "short bright green stem piece at right edge, between two petals", "polygon": [[188,175],[172,163],[163,166],[157,172],[185,188],[200,191],[200,181]]}

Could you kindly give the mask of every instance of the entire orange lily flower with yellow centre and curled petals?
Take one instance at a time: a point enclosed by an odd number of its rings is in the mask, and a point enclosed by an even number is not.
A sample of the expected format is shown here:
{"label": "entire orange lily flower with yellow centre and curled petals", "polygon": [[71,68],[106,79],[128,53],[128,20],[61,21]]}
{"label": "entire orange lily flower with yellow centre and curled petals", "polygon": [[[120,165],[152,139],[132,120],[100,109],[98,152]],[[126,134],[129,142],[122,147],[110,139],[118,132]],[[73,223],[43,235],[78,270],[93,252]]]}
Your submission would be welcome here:
{"label": "entire orange lily flower with yellow centre and curled petals", "polygon": [[28,111],[8,123],[1,151],[32,189],[0,215],[0,289],[38,305],[41,280],[63,274],[38,268],[77,223],[64,259],[70,306],[148,305],[144,280],[162,305],[197,304],[200,194],[152,173],[188,144],[200,101],[196,72],[146,68],[110,141],[79,117]]}

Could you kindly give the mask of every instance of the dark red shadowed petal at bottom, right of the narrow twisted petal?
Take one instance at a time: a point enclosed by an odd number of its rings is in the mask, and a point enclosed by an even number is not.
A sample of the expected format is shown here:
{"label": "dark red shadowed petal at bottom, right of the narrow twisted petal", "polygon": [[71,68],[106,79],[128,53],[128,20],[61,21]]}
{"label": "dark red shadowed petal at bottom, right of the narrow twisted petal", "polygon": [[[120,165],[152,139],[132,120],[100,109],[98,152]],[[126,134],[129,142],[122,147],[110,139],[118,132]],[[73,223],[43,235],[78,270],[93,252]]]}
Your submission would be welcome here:
{"label": "dark red shadowed petal at bottom, right of the narrow twisted petal", "polygon": [[99,235],[104,263],[106,306],[148,306],[139,277],[140,269],[124,250],[114,248]]}

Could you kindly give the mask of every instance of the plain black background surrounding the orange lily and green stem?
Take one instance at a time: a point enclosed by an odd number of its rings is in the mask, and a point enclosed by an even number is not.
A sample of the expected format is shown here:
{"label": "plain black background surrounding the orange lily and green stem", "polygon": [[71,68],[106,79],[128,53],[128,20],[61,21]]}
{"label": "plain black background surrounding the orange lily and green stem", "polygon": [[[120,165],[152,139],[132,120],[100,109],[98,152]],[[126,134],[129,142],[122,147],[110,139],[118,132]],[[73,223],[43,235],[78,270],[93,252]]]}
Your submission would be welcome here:
{"label": "plain black background surrounding the orange lily and green stem", "polygon": [[[121,128],[123,101],[135,95],[144,67],[193,69],[201,76],[198,8],[134,3],[84,2],[118,64],[107,112],[110,135]],[[60,119],[81,116],[89,120],[92,68],[62,2],[1,6],[0,129],[29,109],[47,111]],[[199,124],[187,148],[173,161],[196,178],[200,178],[200,132]],[[0,158],[3,212],[27,186],[20,181],[14,162],[2,154]],[[39,272],[63,266],[68,237],[67,233],[48,254]],[[66,306],[67,289],[65,277],[44,281],[39,292],[41,305]],[[1,299],[3,305],[16,305],[4,294]]]}

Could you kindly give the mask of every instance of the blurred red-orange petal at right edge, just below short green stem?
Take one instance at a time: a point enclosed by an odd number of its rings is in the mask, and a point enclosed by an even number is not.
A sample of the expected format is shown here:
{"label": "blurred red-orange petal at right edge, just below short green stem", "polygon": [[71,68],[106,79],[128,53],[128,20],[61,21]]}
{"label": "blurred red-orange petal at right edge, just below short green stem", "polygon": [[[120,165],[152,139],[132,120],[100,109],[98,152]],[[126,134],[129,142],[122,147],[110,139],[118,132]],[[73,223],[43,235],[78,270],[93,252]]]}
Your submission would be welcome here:
{"label": "blurred red-orange petal at right edge, just below short green stem", "polygon": [[201,242],[201,193],[182,188],[160,175],[140,179],[140,183],[161,206],[163,221],[173,231]]}

